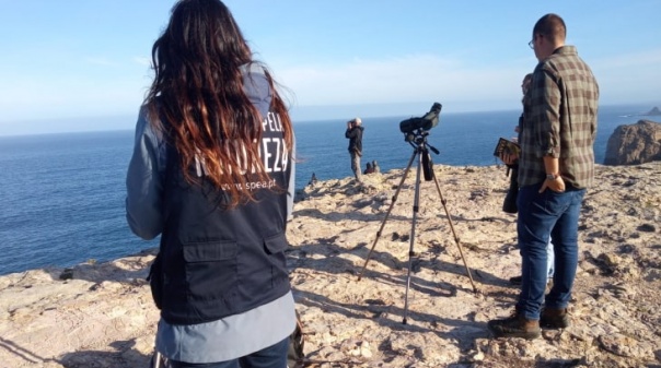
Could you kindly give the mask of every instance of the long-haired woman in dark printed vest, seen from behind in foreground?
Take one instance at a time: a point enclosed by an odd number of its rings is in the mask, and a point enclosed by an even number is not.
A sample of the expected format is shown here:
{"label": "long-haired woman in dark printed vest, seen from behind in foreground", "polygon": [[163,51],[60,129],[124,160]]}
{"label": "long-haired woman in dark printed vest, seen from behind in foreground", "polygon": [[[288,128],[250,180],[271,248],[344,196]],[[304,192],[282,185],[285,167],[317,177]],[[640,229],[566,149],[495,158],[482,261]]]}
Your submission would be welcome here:
{"label": "long-haired woman in dark printed vest, seen from behind in foreground", "polygon": [[287,366],[293,188],[285,103],[219,0],[181,0],[152,48],[127,221],[161,235],[150,284],[169,367]]}

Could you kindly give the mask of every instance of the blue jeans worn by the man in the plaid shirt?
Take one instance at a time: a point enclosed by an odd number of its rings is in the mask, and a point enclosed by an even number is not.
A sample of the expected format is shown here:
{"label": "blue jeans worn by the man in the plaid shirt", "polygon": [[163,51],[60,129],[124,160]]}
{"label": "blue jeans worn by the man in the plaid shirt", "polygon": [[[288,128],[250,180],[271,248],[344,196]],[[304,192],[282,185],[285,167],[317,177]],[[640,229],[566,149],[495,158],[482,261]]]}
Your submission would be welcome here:
{"label": "blue jeans worn by the man in the plaid shirt", "polygon": [[517,310],[526,319],[538,320],[546,290],[547,247],[553,238],[555,270],[553,287],[546,296],[548,308],[566,308],[571,297],[578,266],[578,219],[585,189],[567,185],[563,193],[542,183],[519,189],[517,232],[521,251],[521,294]]}

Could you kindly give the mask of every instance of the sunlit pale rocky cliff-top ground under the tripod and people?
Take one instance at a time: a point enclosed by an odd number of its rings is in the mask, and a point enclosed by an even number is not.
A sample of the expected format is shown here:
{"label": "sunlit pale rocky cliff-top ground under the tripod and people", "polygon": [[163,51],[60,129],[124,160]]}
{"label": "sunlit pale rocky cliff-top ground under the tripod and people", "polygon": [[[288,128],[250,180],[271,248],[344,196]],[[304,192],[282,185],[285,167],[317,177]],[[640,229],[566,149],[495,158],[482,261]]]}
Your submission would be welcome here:
{"label": "sunlit pale rocky cliff-top ground under the tripod and people", "polygon": [[[419,190],[407,324],[415,168],[385,223],[402,170],[298,193],[288,258],[309,367],[661,364],[661,163],[598,166],[580,219],[572,325],[534,341],[492,340],[486,329],[518,295],[508,283],[520,272],[515,215],[500,211],[505,168],[434,173],[441,194],[433,181]],[[0,367],[147,367],[153,256],[0,277]]]}

